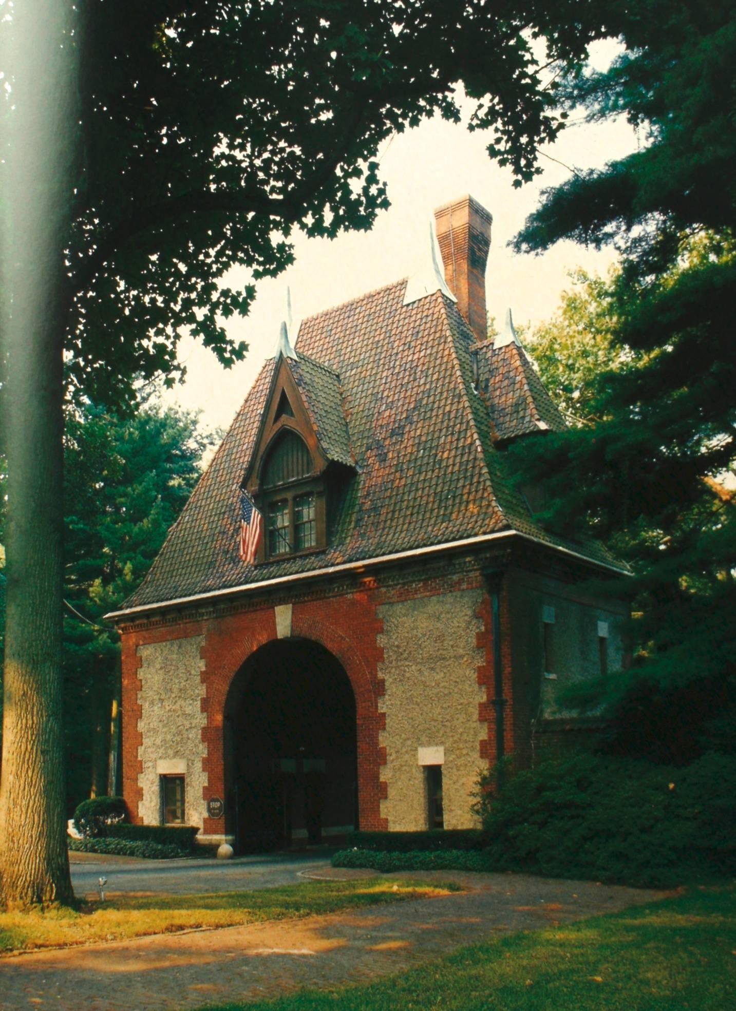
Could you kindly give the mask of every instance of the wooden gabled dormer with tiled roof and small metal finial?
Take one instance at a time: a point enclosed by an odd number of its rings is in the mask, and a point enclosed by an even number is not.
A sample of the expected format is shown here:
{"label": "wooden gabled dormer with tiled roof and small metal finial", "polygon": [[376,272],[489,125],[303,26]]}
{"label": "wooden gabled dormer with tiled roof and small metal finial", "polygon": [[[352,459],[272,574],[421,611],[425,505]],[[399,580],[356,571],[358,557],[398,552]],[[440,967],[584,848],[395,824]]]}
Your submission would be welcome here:
{"label": "wooden gabled dormer with tiled roof and small metal finial", "polygon": [[264,520],[257,562],[327,548],[326,475],[333,463],[353,466],[340,377],[311,359],[280,353],[244,480]]}

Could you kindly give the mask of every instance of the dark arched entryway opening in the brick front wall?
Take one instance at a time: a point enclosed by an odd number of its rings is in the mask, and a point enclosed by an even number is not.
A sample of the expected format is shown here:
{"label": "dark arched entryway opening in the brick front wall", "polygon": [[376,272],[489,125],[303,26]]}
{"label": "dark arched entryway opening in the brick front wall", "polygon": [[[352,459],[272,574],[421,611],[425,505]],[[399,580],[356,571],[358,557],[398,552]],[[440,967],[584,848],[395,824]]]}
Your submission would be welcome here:
{"label": "dark arched entryway opening in the brick front wall", "polygon": [[308,639],[256,650],[224,709],[228,833],[239,852],[357,828],[356,705],[340,661]]}

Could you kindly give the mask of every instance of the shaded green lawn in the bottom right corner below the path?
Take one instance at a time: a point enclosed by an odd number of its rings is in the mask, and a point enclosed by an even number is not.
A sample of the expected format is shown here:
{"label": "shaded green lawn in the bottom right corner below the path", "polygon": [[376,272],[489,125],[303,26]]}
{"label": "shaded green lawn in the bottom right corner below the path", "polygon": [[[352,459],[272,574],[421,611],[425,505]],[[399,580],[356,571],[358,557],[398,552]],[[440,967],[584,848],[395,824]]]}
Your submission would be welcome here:
{"label": "shaded green lawn in the bottom right corner below the path", "polygon": [[731,1011],[736,892],[510,934],[367,987],[207,1011]]}

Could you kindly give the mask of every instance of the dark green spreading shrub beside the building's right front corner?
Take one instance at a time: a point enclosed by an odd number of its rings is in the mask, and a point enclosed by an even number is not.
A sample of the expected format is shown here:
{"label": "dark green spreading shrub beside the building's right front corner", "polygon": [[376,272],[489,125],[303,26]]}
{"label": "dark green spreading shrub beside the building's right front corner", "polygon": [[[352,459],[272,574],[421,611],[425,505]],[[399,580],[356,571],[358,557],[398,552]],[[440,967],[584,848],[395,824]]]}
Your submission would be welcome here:
{"label": "dark green spreading shrub beside the building's right front corner", "polygon": [[574,754],[481,787],[493,869],[664,887],[736,871],[733,756],[673,768]]}

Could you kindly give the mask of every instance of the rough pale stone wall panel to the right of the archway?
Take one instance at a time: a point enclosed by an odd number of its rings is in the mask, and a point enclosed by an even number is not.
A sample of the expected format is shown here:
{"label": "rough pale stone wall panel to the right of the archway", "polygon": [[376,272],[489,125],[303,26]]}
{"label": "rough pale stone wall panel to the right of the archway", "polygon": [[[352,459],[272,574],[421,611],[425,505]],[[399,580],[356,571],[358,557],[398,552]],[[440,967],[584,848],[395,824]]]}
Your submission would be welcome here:
{"label": "rough pale stone wall panel to the right of the archway", "polygon": [[380,674],[385,694],[380,708],[385,730],[386,797],[381,815],[389,830],[427,828],[425,770],[418,748],[443,747],[445,828],[473,824],[471,791],[482,762],[478,723],[485,688],[478,683],[484,660],[483,622],[479,611],[483,591],[417,596],[386,603],[378,609],[383,621]]}

